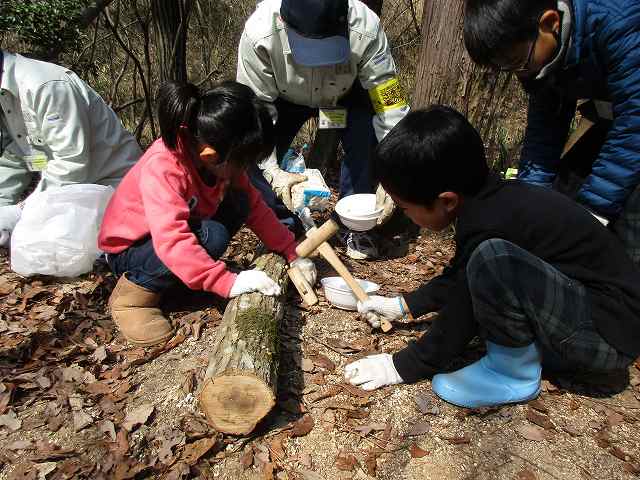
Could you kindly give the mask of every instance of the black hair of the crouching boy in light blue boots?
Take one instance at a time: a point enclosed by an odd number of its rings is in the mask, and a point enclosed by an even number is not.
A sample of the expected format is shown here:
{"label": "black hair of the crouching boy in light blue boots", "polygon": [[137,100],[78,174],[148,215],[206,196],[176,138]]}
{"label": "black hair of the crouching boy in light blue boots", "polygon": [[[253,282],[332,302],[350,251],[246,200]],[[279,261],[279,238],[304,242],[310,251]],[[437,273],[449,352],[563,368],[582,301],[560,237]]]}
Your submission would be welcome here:
{"label": "black hair of the crouching boy in light blue boots", "polygon": [[475,195],[489,172],[478,132],[441,105],[403,118],[376,148],[372,170],[387,192],[418,205],[442,192]]}

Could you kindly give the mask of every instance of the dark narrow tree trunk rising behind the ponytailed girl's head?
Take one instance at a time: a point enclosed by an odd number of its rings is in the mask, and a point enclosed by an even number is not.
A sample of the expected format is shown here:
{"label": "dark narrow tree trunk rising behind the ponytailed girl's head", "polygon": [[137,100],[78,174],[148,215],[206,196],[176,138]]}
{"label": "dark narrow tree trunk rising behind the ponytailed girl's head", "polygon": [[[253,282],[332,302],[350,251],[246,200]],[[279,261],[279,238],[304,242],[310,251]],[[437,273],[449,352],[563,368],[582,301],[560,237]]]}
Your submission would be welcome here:
{"label": "dark narrow tree trunk rising behind the ponytailed girl's head", "polygon": [[187,81],[187,30],[193,0],[151,0],[160,83]]}

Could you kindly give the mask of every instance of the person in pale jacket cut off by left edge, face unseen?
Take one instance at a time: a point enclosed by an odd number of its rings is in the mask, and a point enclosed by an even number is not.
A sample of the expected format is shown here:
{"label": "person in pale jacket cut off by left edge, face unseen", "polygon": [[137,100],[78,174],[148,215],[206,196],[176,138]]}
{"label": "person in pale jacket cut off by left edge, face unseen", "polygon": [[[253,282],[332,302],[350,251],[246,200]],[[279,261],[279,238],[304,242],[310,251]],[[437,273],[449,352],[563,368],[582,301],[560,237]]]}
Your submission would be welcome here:
{"label": "person in pale jacket cut off by left edge, face unseen", "polygon": [[0,50],[0,245],[20,218],[16,203],[76,183],[116,187],[141,155],[102,98],[70,70]]}

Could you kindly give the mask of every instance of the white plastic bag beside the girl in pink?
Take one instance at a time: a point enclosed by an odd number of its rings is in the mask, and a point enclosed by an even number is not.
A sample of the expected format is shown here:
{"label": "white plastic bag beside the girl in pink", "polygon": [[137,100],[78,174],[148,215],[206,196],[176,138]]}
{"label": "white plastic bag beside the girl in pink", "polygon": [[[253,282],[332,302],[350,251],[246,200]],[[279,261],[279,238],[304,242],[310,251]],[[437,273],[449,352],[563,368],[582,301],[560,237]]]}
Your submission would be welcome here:
{"label": "white plastic bag beside the girl in pink", "polygon": [[98,232],[113,188],[67,185],[31,194],[11,235],[11,269],[19,275],[76,277],[100,256]]}

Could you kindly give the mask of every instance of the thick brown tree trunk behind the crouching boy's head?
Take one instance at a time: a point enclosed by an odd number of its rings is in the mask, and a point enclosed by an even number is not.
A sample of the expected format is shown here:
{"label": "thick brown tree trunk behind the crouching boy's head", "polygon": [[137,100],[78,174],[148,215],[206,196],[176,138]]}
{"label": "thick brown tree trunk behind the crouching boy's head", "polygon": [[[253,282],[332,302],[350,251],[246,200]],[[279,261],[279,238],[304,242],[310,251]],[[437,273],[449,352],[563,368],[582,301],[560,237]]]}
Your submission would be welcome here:
{"label": "thick brown tree trunk behind the crouching boy's head", "polygon": [[480,132],[493,166],[517,154],[526,123],[524,95],[513,75],[475,65],[463,40],[464,0],[425,0],[413,107],[449,105]]}

